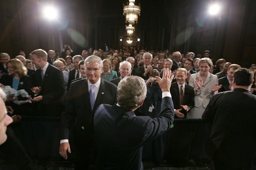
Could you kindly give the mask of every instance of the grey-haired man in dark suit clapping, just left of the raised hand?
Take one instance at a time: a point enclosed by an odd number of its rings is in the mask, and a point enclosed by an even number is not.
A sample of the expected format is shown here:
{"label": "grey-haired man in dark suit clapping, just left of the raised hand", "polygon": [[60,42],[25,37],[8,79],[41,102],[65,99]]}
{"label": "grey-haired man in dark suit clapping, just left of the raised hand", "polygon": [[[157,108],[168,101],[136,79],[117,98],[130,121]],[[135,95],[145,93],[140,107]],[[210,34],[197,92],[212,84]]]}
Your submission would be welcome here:
{"label": "grey-haired man in dark suit clapping, just left of the raised hand", "polygon": [[149,71],[152,69],[157,69],[157,67],[151,65],[151,60],[152,60],[152,54],[151,53],[144,53],[143,54],[143,63],[144,65],[138,67],[136,69],[137,73],[136,75],[143,78],[144,80],[147,80],[149,78]]}

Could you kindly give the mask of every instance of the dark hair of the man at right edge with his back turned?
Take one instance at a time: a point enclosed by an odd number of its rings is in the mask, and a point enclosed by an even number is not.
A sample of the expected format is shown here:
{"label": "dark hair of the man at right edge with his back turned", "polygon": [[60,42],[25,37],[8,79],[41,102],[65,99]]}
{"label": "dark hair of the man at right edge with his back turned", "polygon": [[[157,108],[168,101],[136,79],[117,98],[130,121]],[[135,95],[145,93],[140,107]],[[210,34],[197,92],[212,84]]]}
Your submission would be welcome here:
{"label": "dark hair of the man at right edge with his back turned", "polygon": [[235,71],[234,82],[237,86],[250,86],[254,79],[253,71],[247,68],[239,68]]}

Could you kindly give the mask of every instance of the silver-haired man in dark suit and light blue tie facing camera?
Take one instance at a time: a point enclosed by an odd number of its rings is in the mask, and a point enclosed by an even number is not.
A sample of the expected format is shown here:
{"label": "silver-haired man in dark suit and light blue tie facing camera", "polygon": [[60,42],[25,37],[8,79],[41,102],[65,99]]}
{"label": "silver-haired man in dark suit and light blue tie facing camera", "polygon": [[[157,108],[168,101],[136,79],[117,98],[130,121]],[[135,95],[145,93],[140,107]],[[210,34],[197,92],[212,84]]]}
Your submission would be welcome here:
{"label": "silver-haired man in dark suit and light blue tie facing camera", "polygon": [[61,116],[60,155],[67,159],[71,153],[69,130],[75,123],[74,140],[76,170],[86,170],[90,153],[94,150],[93,117],[100,104],[116,102],[117,86],[101,79],[103,62],[100,57],[90,56],[85,60],[87,78],[71,84],[67,95],[66,109]]}

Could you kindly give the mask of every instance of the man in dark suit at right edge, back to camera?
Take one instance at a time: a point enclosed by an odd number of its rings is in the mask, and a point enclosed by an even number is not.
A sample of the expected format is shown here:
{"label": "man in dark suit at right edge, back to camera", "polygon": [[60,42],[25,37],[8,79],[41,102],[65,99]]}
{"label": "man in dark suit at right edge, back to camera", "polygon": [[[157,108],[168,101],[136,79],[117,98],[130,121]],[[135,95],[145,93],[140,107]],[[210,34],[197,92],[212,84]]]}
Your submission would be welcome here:
{"label": "man in dark suit at right edge, back to camera", "polygon": [[256,96],[249,90],[253,77],[246,68],[236,70],[234,91],[214,95],[202,115],[212,122],[206,150],[215,170],[251,170],[256,151]]}

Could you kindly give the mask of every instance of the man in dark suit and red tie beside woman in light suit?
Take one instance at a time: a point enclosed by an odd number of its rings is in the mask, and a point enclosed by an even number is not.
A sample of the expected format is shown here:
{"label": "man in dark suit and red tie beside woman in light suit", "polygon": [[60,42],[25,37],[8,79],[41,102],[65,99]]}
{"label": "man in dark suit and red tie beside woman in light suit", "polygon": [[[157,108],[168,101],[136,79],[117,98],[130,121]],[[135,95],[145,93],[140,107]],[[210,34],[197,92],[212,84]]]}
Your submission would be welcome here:
{"label": "man in dark suit and red tie beside woman in light suit", "polygon": [[171,85],[171,96],[174,105],[175,118],[186,118],[187,113],[194,107],[194,89],[185,83],[187,70],[176,70],[177,82]]}

